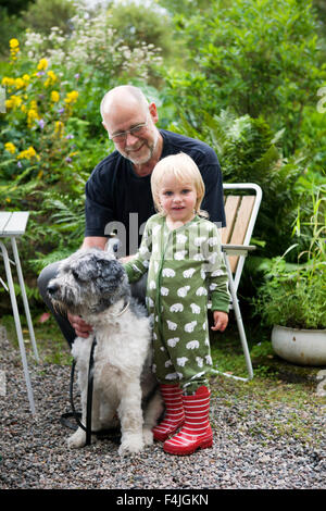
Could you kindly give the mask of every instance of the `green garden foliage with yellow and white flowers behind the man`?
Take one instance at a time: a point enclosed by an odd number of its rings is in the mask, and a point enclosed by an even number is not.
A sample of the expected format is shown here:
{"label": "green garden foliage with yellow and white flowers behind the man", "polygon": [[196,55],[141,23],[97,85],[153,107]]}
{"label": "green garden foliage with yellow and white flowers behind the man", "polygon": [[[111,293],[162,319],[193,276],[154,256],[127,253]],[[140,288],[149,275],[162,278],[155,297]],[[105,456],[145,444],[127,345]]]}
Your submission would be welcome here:
{"label": "green garden foliage with yellow and white flowers behind the man", "polygon": [[159,127],[212,145],[225,182],[262,186],[248,306],[272,258],[309,247],[311,197],[325,194],[323,2],[1,0],[0,20],[0,208],[32,212],[20,250],[35,310],[38,272],[83,240],[85,182],[112,150],[99,103],[123,83],[156,102]]}

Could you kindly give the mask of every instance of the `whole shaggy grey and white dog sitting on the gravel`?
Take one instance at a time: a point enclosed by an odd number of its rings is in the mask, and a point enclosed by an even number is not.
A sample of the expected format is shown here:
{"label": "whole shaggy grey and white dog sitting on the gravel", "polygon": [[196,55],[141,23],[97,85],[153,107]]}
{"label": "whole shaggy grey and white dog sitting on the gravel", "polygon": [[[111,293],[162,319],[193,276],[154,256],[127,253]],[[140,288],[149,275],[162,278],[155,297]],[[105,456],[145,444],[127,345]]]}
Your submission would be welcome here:
{"label": "whole shaggy grey and white dog sitting on the gravel", "polygon": [[[83,424],[86,424],[89,354],[96,336],[91,431],[116,425],[117,415],[122,429],[120,454],[139,452],[145,445],[152,444],[151,429],[163,406],[151,373],[150,320],[146,308],[130,296],[123,265],[112,251],[78,250],[62,261],[58,276],[49,283],[48,294],[54,307],[79,314],[92,326],[92,334],[87,339],[77,337],[72,348]],[[80,427],[68,438],[73,448],[85,443],[86,433]]]}

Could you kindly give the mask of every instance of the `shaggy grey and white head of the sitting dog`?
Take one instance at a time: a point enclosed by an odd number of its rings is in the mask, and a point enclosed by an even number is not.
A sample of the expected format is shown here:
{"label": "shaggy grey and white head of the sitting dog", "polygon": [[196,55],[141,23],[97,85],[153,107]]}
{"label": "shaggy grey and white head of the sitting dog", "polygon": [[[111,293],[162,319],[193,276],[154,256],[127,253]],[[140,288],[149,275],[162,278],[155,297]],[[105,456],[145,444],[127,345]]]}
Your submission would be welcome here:
{"label": "shaggy grey and white head of the sitting dog", "polygon": [[130,294],[126,272],[111,252],[78,250],[62,261],[48,285],[54,307],[87,316],[106,310]]}

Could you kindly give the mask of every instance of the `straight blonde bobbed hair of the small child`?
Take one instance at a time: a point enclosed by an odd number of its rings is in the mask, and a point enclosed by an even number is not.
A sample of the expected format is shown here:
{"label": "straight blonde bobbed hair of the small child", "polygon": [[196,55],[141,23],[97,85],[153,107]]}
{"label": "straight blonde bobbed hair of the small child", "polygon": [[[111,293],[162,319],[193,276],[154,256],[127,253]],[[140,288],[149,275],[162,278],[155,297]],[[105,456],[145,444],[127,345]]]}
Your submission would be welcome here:
{"label": "straight blonde bobbed hair of the small child", "polygon": [[152,172],[152,196],[155,208],[160,214],[164,215],[164,211],[160,204],[160,189],[163,178],[166,176],[174,176],[179,183],[191,183],[197,192],[195,213],[201,216],[209,216],[205,211],[200,209],[205,194],[205,185],[202,180],[201,173],[192,158],[184,152],[163,158],[163,160],[156,163]]}

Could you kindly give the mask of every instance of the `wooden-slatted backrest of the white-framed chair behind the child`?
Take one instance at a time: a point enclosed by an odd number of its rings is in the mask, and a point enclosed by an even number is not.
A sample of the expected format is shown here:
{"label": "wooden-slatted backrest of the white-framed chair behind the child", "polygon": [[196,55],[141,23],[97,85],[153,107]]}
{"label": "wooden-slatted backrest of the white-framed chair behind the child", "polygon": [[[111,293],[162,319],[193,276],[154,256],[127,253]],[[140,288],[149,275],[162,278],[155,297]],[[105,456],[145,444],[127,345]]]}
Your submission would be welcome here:
{"label": "wooden-slatted backrest of the white-framed chair behind the child", "polygon": [[[222,229],[223,245],[249,245],[262,201],[262,189],[254,183],[224,184],[224,190],[231,191],[225,195],[224,208],[226,227]],[[246,190],[249,194],[240,194]],[[229,263],[235,274],[235,286],[238,288],[244,257],[230,256]]]}

